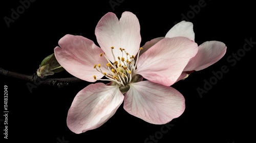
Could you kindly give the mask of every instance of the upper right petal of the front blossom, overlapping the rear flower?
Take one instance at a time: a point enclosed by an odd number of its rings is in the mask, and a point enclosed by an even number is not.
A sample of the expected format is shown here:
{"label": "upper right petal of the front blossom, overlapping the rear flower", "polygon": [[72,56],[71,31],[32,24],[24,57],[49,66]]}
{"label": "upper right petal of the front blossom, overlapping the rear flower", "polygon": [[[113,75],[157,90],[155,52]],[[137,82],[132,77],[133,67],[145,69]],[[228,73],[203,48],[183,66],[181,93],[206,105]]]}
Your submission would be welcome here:
{"label": "upper right petal of the front blossom, overlapping the rear flower", "polygon": [[176,82],[197,51],[197,43],[188,38],[164,38],[139,57],[136,74],[152,82],[170,86]]}

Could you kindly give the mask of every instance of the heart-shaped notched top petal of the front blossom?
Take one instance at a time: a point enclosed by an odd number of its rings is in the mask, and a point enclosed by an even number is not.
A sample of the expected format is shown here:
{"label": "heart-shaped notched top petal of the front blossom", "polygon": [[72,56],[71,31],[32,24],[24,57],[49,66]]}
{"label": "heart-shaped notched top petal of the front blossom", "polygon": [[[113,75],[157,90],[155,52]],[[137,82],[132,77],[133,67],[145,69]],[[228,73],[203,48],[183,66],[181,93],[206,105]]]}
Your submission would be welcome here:
{"label": "heart-shaped notched top petal of the front blossom", "polygon": [[123,12],[120,20],[112,12],[105,14],[96,26],[95,35],[101,49],[112,62],[117,60],[112,56],[112,46],[116,57],[122,56],[120,47],[130,55],[138,53],[141,42],[140,24],[136,15],[131,12]]}

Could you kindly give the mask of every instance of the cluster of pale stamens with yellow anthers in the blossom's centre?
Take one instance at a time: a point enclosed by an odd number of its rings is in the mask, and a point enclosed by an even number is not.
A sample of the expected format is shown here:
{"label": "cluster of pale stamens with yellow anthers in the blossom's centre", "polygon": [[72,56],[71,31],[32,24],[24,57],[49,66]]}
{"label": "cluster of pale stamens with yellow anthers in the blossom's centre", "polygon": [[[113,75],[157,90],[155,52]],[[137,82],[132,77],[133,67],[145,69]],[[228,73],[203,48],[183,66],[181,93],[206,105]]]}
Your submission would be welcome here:
{"label": "cluster of pale stamens with yellow anthers in the blossom's centre", "polygon": [[[137,76],[135,76],[135,69],[137,64],[135,63],[135,56],[130,55],[125,51],[125,49],[119,48],[120,52],[122,53],[122,57],[115,57],[113,49],[114,47],[111,47],[112,49],[112,56],[116,61],[111,62],[108,58],[106,58],[105,54],[100,54],[100,57],[104,56],[106,60],[108,60],[108,63],[106,63],[106,66],[108,67],[108,71],[102,71],[101,70],[101,64],[95,64],[94,68],[102,73],[106,79],[97,79],[96,76],[93,76],[95,80],[103,80],[103,81],[111,81],[111,85],[119,85],[120,88],[129,87],[129,83],[136,82],[134,79],[138,79]],[[140,47],[140,50],[142,50],[142,47]],[[137,59],[139,57],[139,52]],[[135,78],[136,77],[136,78]]]}

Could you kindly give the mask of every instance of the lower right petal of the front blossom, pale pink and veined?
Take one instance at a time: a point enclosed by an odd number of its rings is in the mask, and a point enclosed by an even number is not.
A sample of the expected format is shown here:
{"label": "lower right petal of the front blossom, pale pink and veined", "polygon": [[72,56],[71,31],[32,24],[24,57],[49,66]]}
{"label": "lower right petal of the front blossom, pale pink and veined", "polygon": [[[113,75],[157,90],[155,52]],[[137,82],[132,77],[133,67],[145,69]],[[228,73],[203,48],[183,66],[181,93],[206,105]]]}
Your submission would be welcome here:
{"label": "lower right petal of the front blossom, pale pink and veined", "polygon": [[166,124],[184,112],[185,99],[173,87],[141,81],[130,85],[123,108],[148,123]]}

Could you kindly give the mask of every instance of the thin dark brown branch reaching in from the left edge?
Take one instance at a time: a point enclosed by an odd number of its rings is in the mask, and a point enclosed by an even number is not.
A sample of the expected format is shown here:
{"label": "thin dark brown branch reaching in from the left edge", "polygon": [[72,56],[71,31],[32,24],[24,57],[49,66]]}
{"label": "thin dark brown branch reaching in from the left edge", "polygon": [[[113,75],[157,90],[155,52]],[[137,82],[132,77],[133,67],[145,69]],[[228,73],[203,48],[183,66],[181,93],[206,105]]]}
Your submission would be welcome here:
{"label": "thin dark brown branch reaching in from the left edge", "polygon": [[13,71],[8,71],[0,67],[0,74],[7,76],[7,77],[13,77],[17,79],[23,79],[29,82],[36,83],[38,85],[51,85],[51,86],[56,86],[58,88],[64,87],[68,85],[69,83],[75,83],[75,82],[81,82],[83,80],[78,79],[76,77],[73,78],[60,78],[60,79],[40,79],[36,74],[33,75],[24,75],[24,74],[19,74],[15,73]]}

